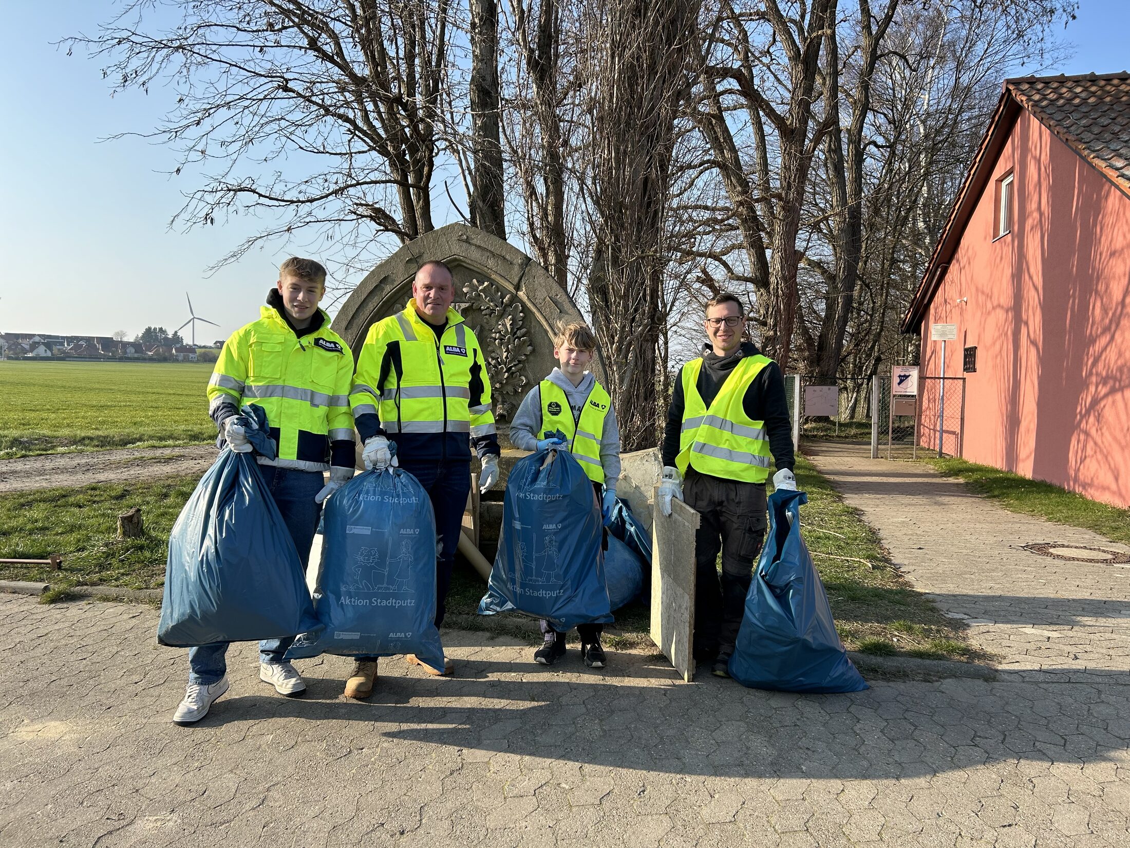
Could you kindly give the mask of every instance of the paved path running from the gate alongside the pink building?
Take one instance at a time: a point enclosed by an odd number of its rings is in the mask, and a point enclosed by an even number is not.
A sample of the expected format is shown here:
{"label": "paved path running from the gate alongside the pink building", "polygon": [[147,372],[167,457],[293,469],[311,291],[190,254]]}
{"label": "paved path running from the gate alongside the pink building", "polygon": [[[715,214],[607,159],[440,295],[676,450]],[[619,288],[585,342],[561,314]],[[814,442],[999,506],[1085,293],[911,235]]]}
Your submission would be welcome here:
{"label": "paved path running from the gate alongside the pink building", "polygon": [[1130,684],[1130,565],[1024,550],[1059,542],[1130,552],[1125,545],[1009,512],[925,465],[870,459],[850,444],[825,442],[808,452],[914,586],[964,621],[1002,672]]}

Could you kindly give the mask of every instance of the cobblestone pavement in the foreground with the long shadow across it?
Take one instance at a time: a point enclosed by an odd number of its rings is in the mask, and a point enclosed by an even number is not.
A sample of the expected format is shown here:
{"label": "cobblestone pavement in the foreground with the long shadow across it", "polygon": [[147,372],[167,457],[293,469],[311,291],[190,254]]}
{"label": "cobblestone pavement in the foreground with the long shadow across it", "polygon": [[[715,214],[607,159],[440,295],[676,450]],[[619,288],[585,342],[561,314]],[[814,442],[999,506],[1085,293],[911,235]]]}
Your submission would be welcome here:
{"label": "cobblestone pavement in the foreground with the long shadow across it", "polygon": [[553,669],[447,632],[457,676],[255,650],[199,725],[169,724],[184,652],[146,606],[0,595],[2,846],[1125,846],[1130,686],[876,682],[850,695],[684,684],[611,652]]}

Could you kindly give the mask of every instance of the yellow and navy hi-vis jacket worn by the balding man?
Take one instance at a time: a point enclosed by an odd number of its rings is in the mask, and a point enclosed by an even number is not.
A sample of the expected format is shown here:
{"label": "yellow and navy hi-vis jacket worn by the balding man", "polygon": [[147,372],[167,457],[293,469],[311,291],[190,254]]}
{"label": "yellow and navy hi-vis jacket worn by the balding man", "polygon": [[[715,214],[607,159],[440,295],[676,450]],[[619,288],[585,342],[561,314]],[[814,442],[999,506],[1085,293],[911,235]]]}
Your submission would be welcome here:
{"label": "yellow and navy hi-vis jacket worn by the balding man", "polygon": [[[472,439],[495,434],[490,380],[475,332],[449,309],[437,337],[414,300],[370,328],[349,403],[363,439],[388,433],[414,459],[469,459]],[[379,425],[366,419],[374,413]]]}

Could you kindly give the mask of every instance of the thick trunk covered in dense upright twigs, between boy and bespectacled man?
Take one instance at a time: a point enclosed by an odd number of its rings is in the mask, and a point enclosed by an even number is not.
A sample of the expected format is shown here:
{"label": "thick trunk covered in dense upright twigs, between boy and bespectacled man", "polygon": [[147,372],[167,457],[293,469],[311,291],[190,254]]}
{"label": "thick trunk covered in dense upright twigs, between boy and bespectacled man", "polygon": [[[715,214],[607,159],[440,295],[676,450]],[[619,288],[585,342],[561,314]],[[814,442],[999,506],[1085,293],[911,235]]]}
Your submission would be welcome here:
{"label": "thick trunk covered in dense upright twigs, between boy and bespectacled man", "polygon": [[625,450],[654,444],[666,213],[676,121],[689,94],[698,3],[611,0],[589,7],[584,190],[592,228],[586,294],[610,352]]}

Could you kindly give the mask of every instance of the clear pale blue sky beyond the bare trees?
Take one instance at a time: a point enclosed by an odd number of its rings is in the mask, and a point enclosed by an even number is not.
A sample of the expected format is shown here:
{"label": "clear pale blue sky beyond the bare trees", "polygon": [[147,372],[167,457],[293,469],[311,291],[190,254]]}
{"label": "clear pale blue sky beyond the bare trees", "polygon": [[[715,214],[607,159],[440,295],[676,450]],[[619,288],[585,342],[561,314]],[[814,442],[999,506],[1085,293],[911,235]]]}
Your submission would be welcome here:
{"label": "clear pale blue sky beyond the bare trees", "polygon": [[[97,61],[79,52],[67,57],[51,45],[78,32],[93,33],[114,6],[107,0],[17,0],[6,7],[0,244],[8,270],[0,280],[0,331],[108,336],[125,330],[132,338],[147,325],[173,329],[186,320],[185,291],[198,315],[220,325],[201,326],[198,341],[225,338],[252,320],[278,262],[308,250],[276,242],[207,276],[206,268],[261,222],[235,218],[186,234],[169,231],[181,191],[199,183],[165,175],[176,164],[169,148],[138,138],[99,142],[151,128],[168,104],[168,92],[112,99]],[[1128,24],[1127,0],[1083,0],[1078,19],[1066,31],[1076,53],[1048,72],[1130,68]],[[436,211],[436,224],[447,223],[442,207]]]}

